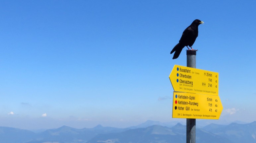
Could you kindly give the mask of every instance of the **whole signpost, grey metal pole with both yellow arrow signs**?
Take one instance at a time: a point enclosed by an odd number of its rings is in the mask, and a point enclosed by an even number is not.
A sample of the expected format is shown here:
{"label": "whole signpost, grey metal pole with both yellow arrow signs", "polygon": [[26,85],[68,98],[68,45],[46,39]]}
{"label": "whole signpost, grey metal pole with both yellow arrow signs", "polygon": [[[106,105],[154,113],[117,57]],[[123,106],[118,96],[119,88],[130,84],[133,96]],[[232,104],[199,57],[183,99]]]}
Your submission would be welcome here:
{"label": "whole signpost, grey metal pole with both yellow arrow signs", "polygon": [[187,67],[174,65],[169,75],[172,118],[187,118],[186,142],[196,142],[196,119],[219,119],[219,73],[196,69],[196,50],[187,50]]}

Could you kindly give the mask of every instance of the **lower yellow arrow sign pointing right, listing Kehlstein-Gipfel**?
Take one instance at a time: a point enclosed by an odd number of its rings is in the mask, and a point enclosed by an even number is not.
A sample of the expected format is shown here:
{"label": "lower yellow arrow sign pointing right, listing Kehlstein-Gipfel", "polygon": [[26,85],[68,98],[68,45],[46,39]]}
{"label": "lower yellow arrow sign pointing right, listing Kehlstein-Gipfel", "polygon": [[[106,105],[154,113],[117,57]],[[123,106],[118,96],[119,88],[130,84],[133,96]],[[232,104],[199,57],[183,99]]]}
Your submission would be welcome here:
{"label": "lower yellow arrow sign pointing right, listing Kehlstein-Gipfel", "polygon": [[219,96],[173,92],[172,118],[219,119],[222,109]]}

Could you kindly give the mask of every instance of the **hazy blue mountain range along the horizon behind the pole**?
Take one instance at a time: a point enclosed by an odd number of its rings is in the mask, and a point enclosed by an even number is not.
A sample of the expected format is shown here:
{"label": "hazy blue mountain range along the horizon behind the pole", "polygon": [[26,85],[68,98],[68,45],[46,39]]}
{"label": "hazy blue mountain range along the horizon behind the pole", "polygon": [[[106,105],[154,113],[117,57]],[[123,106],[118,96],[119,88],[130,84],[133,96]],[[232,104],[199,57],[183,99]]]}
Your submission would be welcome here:
{"label": "hazy blue mountain range along the horizon behind the pole", "polygon": [[[154,124],[154,125],[153,125]],[[186,126],[147,121],[130,128],[98,125],[75,129],[62,126],[42,132],[0,127],[0,143],[185,143]],[[210,124],[196,128],[197,143],[256,143],[256,121],[249,124]]]}

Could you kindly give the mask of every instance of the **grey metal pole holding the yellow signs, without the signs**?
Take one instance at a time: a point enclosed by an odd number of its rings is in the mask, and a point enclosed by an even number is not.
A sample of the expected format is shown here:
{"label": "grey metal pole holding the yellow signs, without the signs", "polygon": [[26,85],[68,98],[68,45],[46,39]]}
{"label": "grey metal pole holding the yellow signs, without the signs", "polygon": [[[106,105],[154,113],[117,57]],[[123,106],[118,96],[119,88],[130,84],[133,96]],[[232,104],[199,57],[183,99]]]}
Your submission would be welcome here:
{"label": "grey metal pole holding the yellow signs, without the signs", "polygon": [[[196,50],[187,50],[187,67],[196,68]],[[196,143],[196,119],[187,119],[187,143]]]}

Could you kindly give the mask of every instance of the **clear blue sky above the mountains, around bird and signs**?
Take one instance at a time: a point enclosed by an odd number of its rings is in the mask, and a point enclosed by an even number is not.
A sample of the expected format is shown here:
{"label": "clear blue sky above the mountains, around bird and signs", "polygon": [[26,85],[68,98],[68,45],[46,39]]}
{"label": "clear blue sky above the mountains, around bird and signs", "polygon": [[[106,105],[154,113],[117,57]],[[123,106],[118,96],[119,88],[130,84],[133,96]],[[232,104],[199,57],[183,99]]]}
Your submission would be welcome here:
{"label": "clear blue sky above the mountains, around bird and signs", "polygon": [[[172,118],[171,49],[194,19],[220,120],[256,120],[256,1],[1,1],[0,126],[129,127]],[[201,121],[201,120],[199,120]]]}

